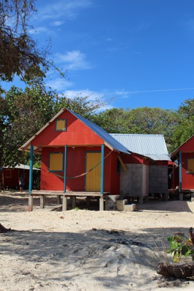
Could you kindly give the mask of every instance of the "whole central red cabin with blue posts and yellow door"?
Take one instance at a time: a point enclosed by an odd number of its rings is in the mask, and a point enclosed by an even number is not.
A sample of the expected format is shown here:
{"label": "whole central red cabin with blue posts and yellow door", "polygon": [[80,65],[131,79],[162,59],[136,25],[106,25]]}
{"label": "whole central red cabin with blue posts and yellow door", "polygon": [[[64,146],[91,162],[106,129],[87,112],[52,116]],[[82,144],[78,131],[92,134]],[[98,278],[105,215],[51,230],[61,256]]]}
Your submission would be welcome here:
{"label": "whole central red cabin with blue posts and yellow door", "polygon": [[[42,191],[119,193],[118,164],[130,155],[105,130],[70,109],[62,109],[35,136],[21,146],[42,154]],[[30,173],[30,176],[32,174]],[[30,179],[29,191],[32,190]]]}

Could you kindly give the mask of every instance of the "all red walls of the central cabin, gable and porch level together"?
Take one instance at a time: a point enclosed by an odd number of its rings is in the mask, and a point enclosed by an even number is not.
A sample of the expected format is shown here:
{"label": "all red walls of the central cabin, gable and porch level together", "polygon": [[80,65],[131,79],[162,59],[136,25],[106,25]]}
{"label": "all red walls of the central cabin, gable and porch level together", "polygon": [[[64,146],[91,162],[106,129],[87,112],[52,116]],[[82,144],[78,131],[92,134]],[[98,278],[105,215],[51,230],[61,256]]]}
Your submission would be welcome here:
{"label": "all red walls of the central cabin, gable and porch level together", "polygon": [[[54,175],[48,172],[49,152],[64,152],[64,145],[67,145],[67,177],[75,177],[85,173],[85,152],[100,152],[100,145],[104,143],[100,136],[71,112],[64,111],[58,116],[58,119],[62,118],[67,120],[67,131],[56,131],[53,121],[31,143],[31,145],[42,146],[40,184],[42,190],[64,190],[64,173],[55,172]],[[71,145],[75,145],[75,148]],[[105,157],[109,152],[109,148],[105,147]],[[111,194],[118,194],[120,188],[120,174],[116,173],[116,157],[116,152],[112,152],[105,158],[104,191]],[[85,191],[85,175],[77,179],[67,179],[67,190]]]}

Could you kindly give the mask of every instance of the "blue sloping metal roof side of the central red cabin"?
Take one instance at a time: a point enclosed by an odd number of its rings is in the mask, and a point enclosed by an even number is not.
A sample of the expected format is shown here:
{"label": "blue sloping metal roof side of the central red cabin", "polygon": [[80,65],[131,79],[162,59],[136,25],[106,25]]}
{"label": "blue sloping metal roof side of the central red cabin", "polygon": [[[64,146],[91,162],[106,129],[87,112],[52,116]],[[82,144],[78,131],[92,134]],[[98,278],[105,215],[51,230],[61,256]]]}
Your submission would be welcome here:
{"label": "blue sloping metal roof side of the central red cabin", "polygon": [[103,130],[102,127],[96,125],[95,123],[87,120],[86,118],[80,116],[76,112],[71,111],[70,109],[67,109],[69,112],[71,112],[74,116],[76,116],[82,123],[85,123],[92,131],[94,131],[98,136],[103,139],[107,144],[109,144],[114,150],[118,150],[119,152],[125,152],[125,154],[130,154],[130,152],[125,148],[125,145],[121,144],[119,141],[114,139],[110,134],[108,134],[105,130]]}

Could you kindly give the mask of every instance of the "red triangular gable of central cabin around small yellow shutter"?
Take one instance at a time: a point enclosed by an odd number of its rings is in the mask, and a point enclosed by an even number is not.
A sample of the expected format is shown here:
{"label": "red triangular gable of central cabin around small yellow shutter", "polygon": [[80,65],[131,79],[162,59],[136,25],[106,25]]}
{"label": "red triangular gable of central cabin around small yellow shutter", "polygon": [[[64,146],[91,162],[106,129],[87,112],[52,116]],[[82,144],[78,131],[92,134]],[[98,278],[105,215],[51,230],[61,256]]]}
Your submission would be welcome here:
{"label": "red triangular gable of central cabin around small yellow shutter", "polygon": [[33,139],[31,145],[101,145],[104,143],[100,136],[71,112],[66,110],[58,118],[67,119],[67,131],[56,131],[55,121],[53,121]]}

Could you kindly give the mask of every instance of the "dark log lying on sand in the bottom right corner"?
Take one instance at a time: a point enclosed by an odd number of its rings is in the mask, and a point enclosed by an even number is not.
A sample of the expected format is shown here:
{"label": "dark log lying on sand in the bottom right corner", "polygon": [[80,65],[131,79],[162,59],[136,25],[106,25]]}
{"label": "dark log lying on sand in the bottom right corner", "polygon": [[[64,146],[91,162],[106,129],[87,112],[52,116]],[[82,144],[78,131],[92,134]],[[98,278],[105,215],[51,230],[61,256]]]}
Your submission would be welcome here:
{"label": "dark log lying on sand in the bottom right corner", "polygon": [[194,276],[194,264],[164,265],[164,263],[159,263],[157,274],[167,277],[185,279]]}

